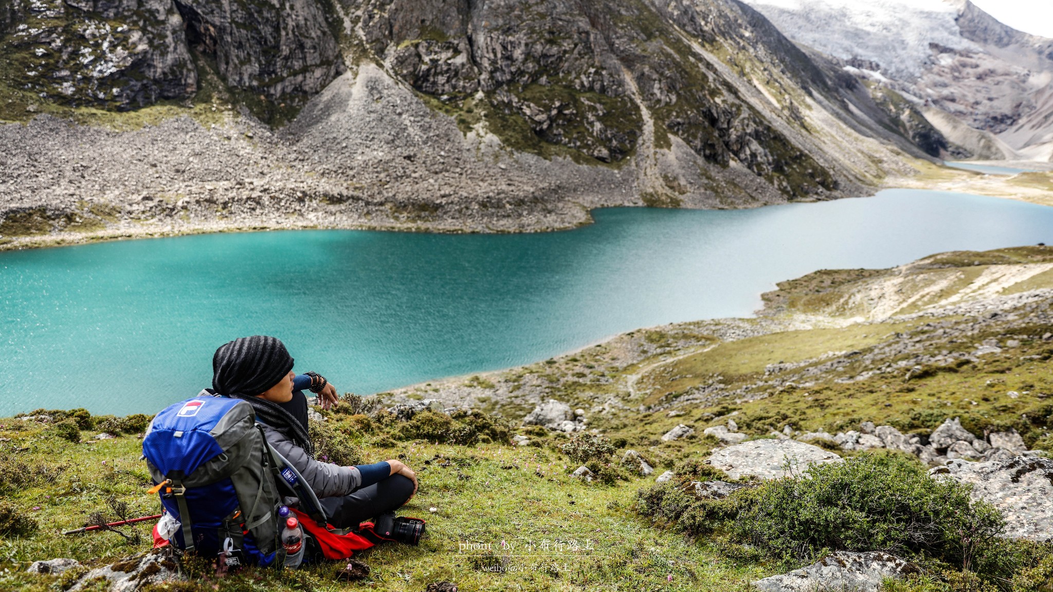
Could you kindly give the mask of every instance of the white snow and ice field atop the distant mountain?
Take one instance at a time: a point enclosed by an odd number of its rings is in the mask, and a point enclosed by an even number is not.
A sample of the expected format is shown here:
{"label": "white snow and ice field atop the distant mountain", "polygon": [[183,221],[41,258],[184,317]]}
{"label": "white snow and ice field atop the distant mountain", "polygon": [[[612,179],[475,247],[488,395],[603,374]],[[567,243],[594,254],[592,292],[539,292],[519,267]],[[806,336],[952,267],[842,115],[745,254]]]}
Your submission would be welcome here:
{"label": "white snow and ice field atop the distant mountain", "polygon": [[893,78],[921,74],[930,43],[974,48],[955,19],[963,0],[744,0],[791,39]]}

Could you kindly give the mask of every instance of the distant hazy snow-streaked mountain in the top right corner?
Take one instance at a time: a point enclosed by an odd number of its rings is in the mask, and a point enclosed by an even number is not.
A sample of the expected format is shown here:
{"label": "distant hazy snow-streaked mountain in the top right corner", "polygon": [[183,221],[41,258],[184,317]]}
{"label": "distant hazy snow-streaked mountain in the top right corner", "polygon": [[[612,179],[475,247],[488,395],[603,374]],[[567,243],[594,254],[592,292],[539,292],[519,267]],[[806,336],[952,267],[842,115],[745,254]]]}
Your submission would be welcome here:
{"label": "distant hazy snow-streaked mountain in the top right corner", "polygon": [[1053,39],[1013,29],[968,0],[747,2],[794,41],[925,107],[976,158],[1049,159]]}

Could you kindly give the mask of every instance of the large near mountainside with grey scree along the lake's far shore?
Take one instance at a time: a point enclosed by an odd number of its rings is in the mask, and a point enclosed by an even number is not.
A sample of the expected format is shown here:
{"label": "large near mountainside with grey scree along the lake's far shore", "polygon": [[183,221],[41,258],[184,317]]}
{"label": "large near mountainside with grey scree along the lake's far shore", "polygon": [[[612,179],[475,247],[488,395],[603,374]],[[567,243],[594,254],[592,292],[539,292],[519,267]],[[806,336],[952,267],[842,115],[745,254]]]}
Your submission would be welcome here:
{"label": "large near mountainside with grey scree along the lake's far shore", "polygon": [[948,145],[733,0],[3,8],[8,246],[830,199]]}

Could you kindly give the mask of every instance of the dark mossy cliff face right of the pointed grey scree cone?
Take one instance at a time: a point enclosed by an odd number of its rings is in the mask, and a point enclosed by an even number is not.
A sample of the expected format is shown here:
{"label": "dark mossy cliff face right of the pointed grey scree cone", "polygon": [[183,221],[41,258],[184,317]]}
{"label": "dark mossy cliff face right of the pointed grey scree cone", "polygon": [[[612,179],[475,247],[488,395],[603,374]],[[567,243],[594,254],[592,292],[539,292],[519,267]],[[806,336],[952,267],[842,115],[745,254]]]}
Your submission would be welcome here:
{"label": "dark mossy cliff face right of the pointed grey scree cone", "polygon": [[636,151],[647,120],[659,146],[672,133],[707,161],[735,159],[788,196],[837,186],[692,46],[748,26],[734,5],[369,0],[345,9],[361,15],[363,44],[396,75],[450,108],[484,110],[511,143],[525,133],[617,162]]}

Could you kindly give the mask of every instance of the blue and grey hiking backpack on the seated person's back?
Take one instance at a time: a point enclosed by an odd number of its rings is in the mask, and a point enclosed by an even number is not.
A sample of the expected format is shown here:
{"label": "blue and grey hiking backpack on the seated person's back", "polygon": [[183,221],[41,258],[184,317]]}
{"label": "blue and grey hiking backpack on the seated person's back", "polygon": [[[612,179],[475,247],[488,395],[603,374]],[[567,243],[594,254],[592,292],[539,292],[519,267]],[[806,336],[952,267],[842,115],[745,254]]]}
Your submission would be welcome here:
{"label": "blue and grey hiking backpack on the seated person's back", "polygon": [[253,407],[240,399],[198,396],[154,417],[142,453],[165,512],[179,518],[177,549],[222,554],[224,563],[284,560],[278,509],[284,497],[325,524],[302,476],[267,443]]}

